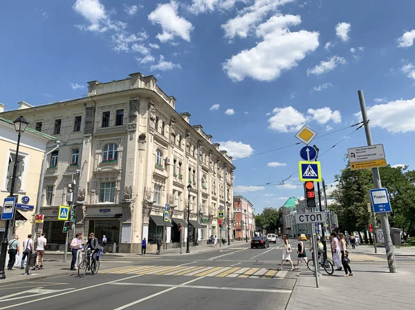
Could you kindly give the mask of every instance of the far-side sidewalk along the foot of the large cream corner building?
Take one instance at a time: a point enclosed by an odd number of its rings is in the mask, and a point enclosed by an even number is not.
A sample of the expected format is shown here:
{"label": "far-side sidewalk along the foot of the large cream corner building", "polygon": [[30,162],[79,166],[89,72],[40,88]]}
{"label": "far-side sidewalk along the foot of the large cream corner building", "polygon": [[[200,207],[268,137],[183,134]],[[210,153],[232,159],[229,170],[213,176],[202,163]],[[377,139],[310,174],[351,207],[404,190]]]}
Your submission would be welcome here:
{"label": "far-side sidewalk along the foot of the large cream corner building", "polygon": [[[146,253],[146,255],[142,256],[140,254],[130,254],[130,253],[107,253],[101,256],[102,260],[100,260],[100,270],[111,269],[117,267],[120,263],[125,263],[122,260],[117,260],[117,258],[129,258],[129,259],[136,259],[136,260],[146,260],[148,258],[168,258],[168,257],[176,257],[180,256],[181,258],[189,257],[190,255],[195,255],[198,253],[205,253],[210,251],[223,251],[227,249],[232,249],[237,246],[246,246],[246,242],[239,242],[235,241],[232,242],[230,246],[221,246],[219,247],[212,246],[212,245],[199,245],[199,246],[191,246],[190,253],[186,253],[186,248],[183,248],[183,254],[180,254],[180,248],[178,249],[166,249],[165,255],[163,254],[163,250],[161,251],[161,255],[156,255],[156,252]],[[56,259],[56,256],[59,256]],[[62,255],[62,259],[60,256]],[[13,284],[16,282],[22,281],[32,281],[32,280],[41,280],[44,278],[53,278],[59,275],[73,275],[77,276],[77,271],[71,271],[71,253],[68,253],[68,258],[66,262],[63,262],[63,251],[47,251],[45,253],[45,260],[44,260],[44,267],[45,269],[32,271],[30,269],[29,275],[24,275],[24,270],[20,269],[20,267],[15,266],[13,267],[14,270],[8,271],[6,270],[6,279],[1,280],[0,284]],[[111,258],[107,260],[107,258]]]}

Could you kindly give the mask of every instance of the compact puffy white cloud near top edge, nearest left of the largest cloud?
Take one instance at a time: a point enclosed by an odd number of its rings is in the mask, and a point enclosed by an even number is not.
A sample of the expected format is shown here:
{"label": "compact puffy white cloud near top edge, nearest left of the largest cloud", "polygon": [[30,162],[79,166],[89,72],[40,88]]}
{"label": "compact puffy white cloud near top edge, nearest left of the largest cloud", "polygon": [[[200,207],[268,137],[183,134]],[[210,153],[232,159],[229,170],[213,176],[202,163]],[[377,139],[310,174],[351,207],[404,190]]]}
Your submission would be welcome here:
{"label": "compact puffy white cloud near top edge, nearest left of the largest cloud", "polygon": [[166,42],[181,37],[185,41],[190,41],[190,32],[193,30],[192,23],[184,17],[178,16],[178,5],[176,1],[158,4],[156,10],[149,14],[151,23],[158,23],[163,32],[156,35],[160,42]]}

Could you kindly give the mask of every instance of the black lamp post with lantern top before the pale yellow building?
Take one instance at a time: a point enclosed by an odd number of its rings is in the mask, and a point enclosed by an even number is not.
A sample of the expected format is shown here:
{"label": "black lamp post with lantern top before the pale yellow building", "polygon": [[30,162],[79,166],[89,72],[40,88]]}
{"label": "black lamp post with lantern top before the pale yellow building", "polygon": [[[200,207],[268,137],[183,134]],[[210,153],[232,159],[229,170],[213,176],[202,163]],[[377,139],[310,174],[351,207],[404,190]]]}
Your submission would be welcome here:
{"label": "black lamp post with lantern top before the pale yellow building", "polygon": [[[13,165],[13,175],[12,175],[12,184],[10,186],[10,197],[13,197],[15,191],[15,180],[16,180],[16,172],[17,172],[17,159],[19,159],[19,146],[20,146],[20,137],[21,134],[24,133],[26,127],[28,126],[29,122],[24,119],[23,116],[17,117],[15,122],[15,130],[17,131],[17,146],[16,146],[16,155],[15,155],[15,163]],[[13,218],[15,215],[13,214]],[[4,272],[4,267],[6,265],[6,251],[8,245],[8,229],[10,225],[10,220],[6,221],[6,228],[4,231],[4,239],[1,242],[1,253],[0,253],[0,279],[6,279],[6,273]]]}

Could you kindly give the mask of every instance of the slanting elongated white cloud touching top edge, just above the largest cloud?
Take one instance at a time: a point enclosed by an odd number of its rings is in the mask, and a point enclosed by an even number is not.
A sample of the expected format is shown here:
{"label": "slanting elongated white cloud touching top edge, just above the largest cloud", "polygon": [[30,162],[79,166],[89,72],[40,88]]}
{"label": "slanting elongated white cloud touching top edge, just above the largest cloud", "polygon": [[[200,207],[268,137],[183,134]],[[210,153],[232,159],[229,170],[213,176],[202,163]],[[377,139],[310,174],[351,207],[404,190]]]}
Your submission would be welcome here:
{"label": "slanting elongated white cloud touching top edge, just above the largest cloud", "polygon": [[285,3],[292,1],[293,0],[255,0],[252,6],[243,8],[239,11],[237,17],[230,19],[222,25],[223,30],[225,30],[225,38],[233,39],[236,36],[243,38],[248,37],[249,32],[255,28],[269,12],[276,10],[278,6],[282,6]]}

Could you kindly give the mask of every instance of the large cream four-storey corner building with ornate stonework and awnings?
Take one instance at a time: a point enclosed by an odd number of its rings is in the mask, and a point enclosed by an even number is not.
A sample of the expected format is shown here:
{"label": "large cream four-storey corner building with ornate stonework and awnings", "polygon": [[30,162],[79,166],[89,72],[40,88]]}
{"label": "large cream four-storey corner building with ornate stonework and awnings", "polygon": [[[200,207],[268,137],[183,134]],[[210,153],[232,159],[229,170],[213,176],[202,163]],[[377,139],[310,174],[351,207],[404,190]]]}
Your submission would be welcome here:
{"label": "large cream four-storey corner building with ornate stonework and awnings", "polygon": [[21,102],[19,110],[0,114],[24,115],[35,130],[62,142],[48,158],[43,188],[44,231],[51,243],[64,242],[57,209],[67,204],[71,183],[76,232],[106,235],[120,252],[138,253],[142,238],[151,246],[158,237],[180,246],[187,240],[189,207],[192,243],[219,235],[218,208],[226,212],[233,200],[232,157],[212,144],[201,125],[190,124],[189,113],[176,112],[176,99],[163,93],[154,76],[129,76],[90,81],[81,99],[38,107]]}

